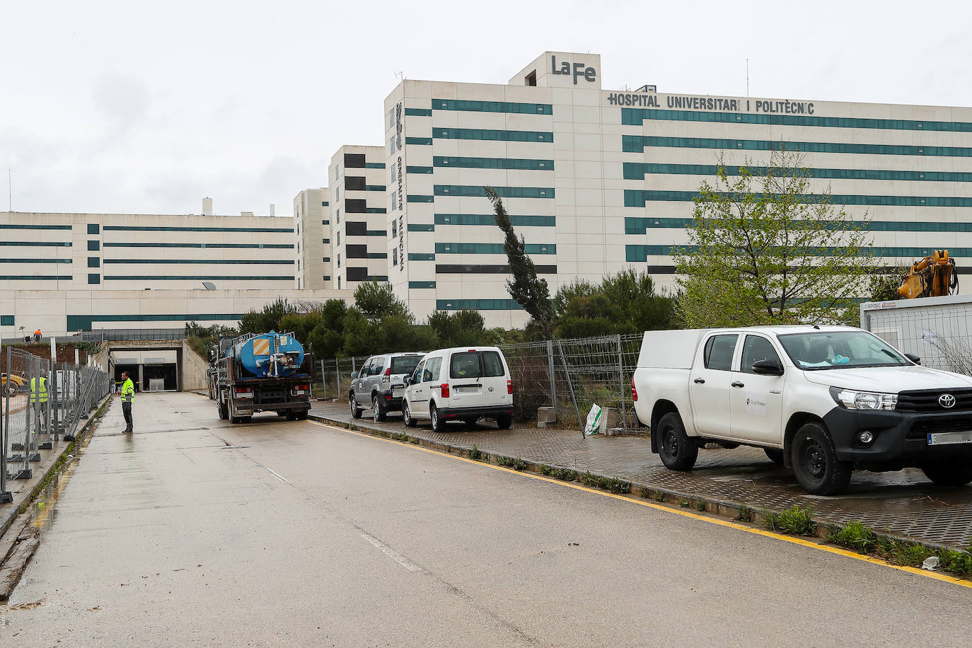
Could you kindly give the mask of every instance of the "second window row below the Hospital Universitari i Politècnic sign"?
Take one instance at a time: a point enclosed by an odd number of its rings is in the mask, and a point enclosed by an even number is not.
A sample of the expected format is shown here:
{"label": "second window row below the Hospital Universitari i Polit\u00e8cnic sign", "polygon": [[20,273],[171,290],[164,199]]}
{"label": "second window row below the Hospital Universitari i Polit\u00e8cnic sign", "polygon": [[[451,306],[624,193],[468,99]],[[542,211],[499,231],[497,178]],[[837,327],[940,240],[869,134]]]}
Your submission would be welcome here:
{"label": "second window row below the Hospital Universitari i Polit\u00e8cnic sign", "polygon": [[776,140],[722,140],[707,137],[649,137],[622,135],[621,151],[643,153],[645,147],[677,149],[735,149],[737,151],[802,151],[804,153],[864,153],[868,155],[939,155],[972,157],[972,149],[962,147],[902,146],[896,144],[842,144],[833,142],[780,142]]}

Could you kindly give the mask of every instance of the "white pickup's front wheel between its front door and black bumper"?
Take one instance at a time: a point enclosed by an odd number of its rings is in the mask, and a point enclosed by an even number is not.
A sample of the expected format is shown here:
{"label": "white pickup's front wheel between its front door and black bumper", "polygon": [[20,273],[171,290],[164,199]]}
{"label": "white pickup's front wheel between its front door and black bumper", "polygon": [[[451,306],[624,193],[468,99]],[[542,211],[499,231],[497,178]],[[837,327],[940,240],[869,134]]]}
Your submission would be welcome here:
{"label": "white pickup's front wheel between its front door and black bumper", "polygon": [[796,480],[811,495],[838,495],[851,483],[853,464],[837,459],[830,434],[818,423],[796,431],[790,460]]}

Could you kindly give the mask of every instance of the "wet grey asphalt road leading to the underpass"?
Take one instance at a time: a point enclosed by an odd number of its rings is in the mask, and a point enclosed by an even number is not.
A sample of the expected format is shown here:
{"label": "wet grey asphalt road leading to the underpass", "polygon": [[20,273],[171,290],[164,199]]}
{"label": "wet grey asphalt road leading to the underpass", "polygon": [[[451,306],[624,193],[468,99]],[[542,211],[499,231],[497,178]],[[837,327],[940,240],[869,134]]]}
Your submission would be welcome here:
{"label": "wet grey asphalt road leading to the underpass", "polygon": [[134,409],[70,477],[5,645],[969,642],[953,584],[194,394]]}

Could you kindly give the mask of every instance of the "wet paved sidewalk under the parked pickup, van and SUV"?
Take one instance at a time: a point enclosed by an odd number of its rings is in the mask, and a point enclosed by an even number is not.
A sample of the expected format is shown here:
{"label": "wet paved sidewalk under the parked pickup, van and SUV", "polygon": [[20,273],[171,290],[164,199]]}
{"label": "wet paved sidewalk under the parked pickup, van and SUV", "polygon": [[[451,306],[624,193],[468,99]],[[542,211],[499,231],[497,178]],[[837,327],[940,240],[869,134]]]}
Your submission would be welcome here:
{"label": "wet paved sidewalk under the parked pickup, van and SUV", "polygon": [[972,487],[937,487],[920,470],[854,472],[847,493],[807,495],[793,474],[766,458],[762,450],[701,450],[695,469],[675,472],[651,453],[647,437],[593,436],[577,430],[514,426],[497,429],[480,423],[473,429],[449,424],[443,433],[426,423],[406,428],[398,413],[375,424],[351,418],[346,403],[317,402],[312,414],[333,421],[351,422],[389,432],[407,431],[429,441],[471,448],[490,454],[548,463],[578,472],[616,477],[632,484],[665,490],[686,497],[746,505],[756,510],[780,511],[793,504],[813,507],[820,520],[848,524],[861,521],[874,529],[932,544],[966,548],[972,541]]}

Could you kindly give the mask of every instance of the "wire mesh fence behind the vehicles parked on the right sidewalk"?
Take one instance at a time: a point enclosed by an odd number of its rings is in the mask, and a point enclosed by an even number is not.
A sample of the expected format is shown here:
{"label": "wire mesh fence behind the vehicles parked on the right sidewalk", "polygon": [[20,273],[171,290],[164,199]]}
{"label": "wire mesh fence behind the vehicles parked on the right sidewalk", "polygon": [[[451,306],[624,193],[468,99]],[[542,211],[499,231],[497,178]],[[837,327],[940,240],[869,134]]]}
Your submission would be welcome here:
{"label": "wire mesh fence behind the vehicles parked on the right sidewalk", "polygon": [[[631,379],[641,347],[641,333],[501,345],[513,381],[516,418],[533,421],[539,407],[553,407],[558,421],[583,427],[597,404],[617,411],[617,427],[638,426]],[[321,360],[315,395],[346,399],[351,374],[367,358]]]}

